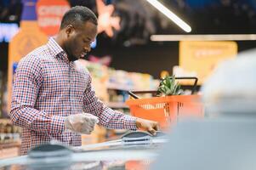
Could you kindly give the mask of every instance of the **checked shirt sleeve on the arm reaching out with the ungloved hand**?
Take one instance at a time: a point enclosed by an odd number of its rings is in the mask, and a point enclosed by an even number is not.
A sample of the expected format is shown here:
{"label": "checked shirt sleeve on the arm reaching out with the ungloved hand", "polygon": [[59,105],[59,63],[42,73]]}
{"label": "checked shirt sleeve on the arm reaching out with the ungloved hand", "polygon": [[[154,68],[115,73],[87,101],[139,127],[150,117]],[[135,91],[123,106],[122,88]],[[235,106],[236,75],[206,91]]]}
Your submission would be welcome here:
{"label": "checked shirt sleeve on the arm reaching out with the ungloved hand", "polygon": [[88,78],[88,87],[83,95],[83,111],[99,117],[99,124],[107,128],[136,130],[136,118],[113,111],[104,105],[95,95],[92,78]]}

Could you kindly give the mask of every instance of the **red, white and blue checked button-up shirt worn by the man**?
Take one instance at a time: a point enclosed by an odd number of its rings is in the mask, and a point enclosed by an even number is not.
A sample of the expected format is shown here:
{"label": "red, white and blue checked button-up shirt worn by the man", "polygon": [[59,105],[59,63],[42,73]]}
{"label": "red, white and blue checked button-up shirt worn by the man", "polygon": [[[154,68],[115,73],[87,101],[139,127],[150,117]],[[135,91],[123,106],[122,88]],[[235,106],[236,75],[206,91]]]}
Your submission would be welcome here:
{"label": "red, white and blue checked button-up shirt worn by the man", "polygon": [[10,117],[22,127],[21,155],[38,144],[58,140],[81,145],[81,135],[65,131],[65,117],[91,113],[108,128],[136,129],[135,118],[113,111],[95,96],[88,70],[50,38],[20,60],[14,77]]}

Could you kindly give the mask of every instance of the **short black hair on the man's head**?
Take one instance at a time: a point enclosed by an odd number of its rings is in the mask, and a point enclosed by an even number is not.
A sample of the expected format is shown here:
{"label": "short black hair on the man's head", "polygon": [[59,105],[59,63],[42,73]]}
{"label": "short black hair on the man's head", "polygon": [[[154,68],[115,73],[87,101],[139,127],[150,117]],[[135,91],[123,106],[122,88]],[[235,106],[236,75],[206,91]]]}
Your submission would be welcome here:
{"label": "short black hair on the man's head", "polygon": [[92,22],[96,26],[98,25],[97,17],[93,11],[87,7],[75,6],[64,14],[61,20],[60,30],[68,25],[80,26],[81,22],[85,23],[87,21]]}

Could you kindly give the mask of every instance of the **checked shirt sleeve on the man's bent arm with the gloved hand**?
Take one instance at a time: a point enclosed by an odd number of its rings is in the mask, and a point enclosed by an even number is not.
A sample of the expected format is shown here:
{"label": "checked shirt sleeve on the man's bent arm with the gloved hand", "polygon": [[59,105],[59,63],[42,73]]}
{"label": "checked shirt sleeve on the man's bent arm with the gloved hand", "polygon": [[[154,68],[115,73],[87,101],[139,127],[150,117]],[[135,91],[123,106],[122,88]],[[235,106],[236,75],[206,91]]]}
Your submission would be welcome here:
{"label": "checked shirt sleeve on the man's bent arm with the gloved hand", "polygon": [[64,116],[49,116],[35,109],[37,95],[43,82],[40,60],[26,56],[20,60],[14,76],[11,111],[14,125],[40,133],[62,133],[65,130]]}

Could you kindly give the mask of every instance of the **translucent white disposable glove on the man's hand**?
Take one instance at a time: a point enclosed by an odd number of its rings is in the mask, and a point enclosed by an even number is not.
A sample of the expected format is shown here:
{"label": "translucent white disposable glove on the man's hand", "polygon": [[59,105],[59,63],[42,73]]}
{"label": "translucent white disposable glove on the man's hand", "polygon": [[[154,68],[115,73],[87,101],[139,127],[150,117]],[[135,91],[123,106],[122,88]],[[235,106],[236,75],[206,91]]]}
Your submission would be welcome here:
{"label": "translucent white disposable glove on the man's hand", "polygon": [[70,115],[65,119],[65,129],[75,133],[90,134],[98,122],[97,116],[88,113]]}

